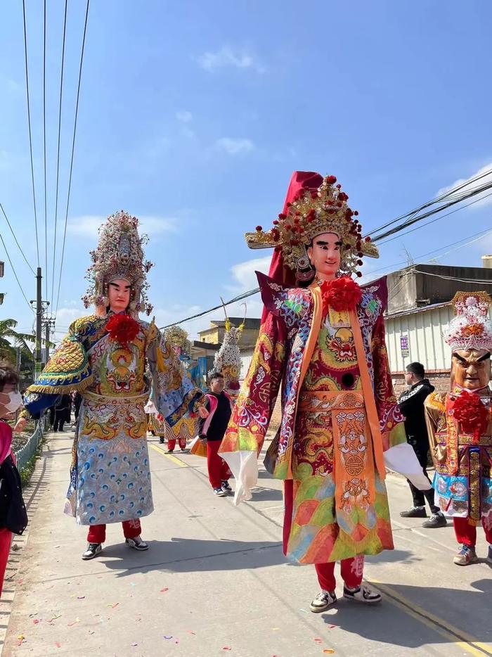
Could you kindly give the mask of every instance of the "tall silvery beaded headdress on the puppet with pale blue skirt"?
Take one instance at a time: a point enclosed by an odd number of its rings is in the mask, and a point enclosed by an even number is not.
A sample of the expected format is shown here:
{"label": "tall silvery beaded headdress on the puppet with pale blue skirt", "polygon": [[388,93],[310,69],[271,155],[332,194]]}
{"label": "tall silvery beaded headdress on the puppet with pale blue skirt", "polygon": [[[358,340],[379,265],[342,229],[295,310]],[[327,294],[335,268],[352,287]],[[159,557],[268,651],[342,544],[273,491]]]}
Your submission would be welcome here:
{"label": "tall silvery beaded headdress on the puppet with pale blue skirt", "polygon": [[108,284],[124,279],[131,285],[130,310],[147,314],[152,306],[147,298],[147,274],[153,263],[144,262],[143,245],[147,236],[138,236],[138,219],[123,210],[108,217],[99,229],[99,243],[91,251],[93,264],[87,270],[89,288],[82,297],[86,308],[108,305]]}

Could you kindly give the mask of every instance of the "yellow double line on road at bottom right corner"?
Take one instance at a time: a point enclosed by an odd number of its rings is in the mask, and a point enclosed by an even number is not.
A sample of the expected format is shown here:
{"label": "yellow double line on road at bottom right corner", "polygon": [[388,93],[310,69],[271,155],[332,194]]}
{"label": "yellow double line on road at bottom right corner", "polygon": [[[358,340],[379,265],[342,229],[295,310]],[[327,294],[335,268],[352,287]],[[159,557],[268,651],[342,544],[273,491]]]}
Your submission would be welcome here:
{"label": "yellow double line on road at bottom right corner", "polygon": [[[475,641],[470,634],[467,634],[467,632],[458,630],[458,627],[454,627],[454,625],[451,625],[451,623],[447,623],[446,620],[439,618],[439,616],[436,616],[429,611],[425,611],[424,608],[415,604],[415,602],[406,598],[401,593],[394,591],[394,589],[391,587],[381,584],[373,578],[370,580],[366,579],[366,581],[375,585],[377,589],[380,589],[380,591],[389,598],[391,604],[401,608],[412,618],[419,620],[420,623],[427,625],[427,627],[429,627],[431,630],[434,630],[434,632],[440,634],[441,637],[444,637],[447,640],[451,639],[455,646],[458,646],[465,652],[470,653],[470,655],[475,655],[476,657],[492,655],[491,646],[488,646],[487,644],[481,643],[479,641]],[[456,641],[456,639],[460,640]]]}

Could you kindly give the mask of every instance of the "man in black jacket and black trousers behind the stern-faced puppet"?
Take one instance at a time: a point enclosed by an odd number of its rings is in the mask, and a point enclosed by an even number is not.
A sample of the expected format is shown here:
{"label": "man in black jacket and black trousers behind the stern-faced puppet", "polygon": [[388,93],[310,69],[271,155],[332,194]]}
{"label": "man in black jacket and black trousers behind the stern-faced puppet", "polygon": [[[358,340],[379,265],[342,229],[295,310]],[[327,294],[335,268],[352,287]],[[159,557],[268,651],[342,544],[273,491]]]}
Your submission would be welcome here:
{"label": "man in black jacket and black trousers behind the stern-faced puppet", "polygon": [[[412,445],[413,451],[422,466],[427,479],[427,459],[429,455],[429,439],[427,438],[427,426],[425,424],[424,402],[430,393],[434,392],[428,378],[425,378],[425,369],[421,363],[410,363],[407,365],[405,374],[406,384],[409,389],[399,399],[400,410],[405,416],[405,430],[407,440]],[[429,479],[429,483],[431,483]],[[408,511],[401,511],[403,518],[427,518],[425,511],[425,500],[429,504],[431,516],[429,520],[422,523],[427,529],[444,527],[447,522],[439,506],[434,503],[434,488],[429,490],[418,490],[413,483],[408,482],[413,496],[413,506]]]}

